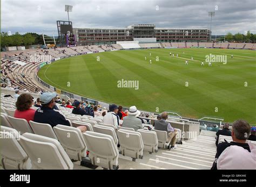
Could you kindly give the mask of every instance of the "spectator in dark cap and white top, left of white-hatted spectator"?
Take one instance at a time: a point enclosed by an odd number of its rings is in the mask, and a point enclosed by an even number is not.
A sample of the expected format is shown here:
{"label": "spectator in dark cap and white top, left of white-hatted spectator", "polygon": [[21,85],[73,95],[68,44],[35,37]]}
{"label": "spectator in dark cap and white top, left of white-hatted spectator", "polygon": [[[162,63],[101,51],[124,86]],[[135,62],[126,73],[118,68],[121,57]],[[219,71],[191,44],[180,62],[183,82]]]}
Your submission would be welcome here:
{"label": "spectator in dark cap and white top, left of white-hatted spectator", "polygon": [[103,123],[113,125],[117,128],[119,125],[119,116],[117,115],[117,111],[117,105],[110,105],[109,112],[107,112],[103,118]]}

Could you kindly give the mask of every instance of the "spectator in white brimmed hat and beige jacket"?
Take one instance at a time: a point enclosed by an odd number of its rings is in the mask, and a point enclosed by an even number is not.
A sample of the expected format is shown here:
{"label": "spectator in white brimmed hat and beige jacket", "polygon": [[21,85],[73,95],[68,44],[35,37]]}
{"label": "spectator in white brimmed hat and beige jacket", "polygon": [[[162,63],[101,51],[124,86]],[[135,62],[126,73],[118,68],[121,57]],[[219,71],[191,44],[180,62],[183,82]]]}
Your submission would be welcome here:
{"label": "spectator in white brimmed hat and beige jacket", "polygon": [[131,106],[129,109],[129,116],[125,116],[123,120],[122,127],[133,128],[134,131],[138,131],[138,129],[143,129],[142,121],[136,118],[136,114],[139,111],[136,106]]}

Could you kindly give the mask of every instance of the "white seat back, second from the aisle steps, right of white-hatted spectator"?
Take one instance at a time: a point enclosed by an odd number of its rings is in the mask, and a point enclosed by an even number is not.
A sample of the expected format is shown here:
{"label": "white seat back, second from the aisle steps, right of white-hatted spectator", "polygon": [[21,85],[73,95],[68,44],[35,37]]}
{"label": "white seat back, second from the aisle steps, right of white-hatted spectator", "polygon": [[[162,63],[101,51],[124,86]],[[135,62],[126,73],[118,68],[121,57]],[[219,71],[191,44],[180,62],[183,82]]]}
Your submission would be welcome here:
{"label": "white seat back, second from the aisle steps, right of white-hatted spectator", "polygon": [[139,129],[137,132],[142,134],[142,140],[144,148],[143,150],[147,150],[150,153],[157,152],[158,150],[158,139],[157,133],[149,130]]}

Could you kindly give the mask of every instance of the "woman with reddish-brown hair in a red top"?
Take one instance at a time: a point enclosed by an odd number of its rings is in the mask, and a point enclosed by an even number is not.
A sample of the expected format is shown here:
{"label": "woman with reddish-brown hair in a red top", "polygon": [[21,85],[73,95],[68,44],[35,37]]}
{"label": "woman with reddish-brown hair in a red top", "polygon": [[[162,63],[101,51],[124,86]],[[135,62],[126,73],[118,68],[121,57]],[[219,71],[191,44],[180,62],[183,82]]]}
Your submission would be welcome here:
{"label": "woman with reddish-brown hair in a red top", "polygon": [[17,109],[15,110],[14,117],[22,118],[26,121],[34,120],[35,110],[30,109],[33,105],[33,98],[29,93],[22,93],[16,102]]}

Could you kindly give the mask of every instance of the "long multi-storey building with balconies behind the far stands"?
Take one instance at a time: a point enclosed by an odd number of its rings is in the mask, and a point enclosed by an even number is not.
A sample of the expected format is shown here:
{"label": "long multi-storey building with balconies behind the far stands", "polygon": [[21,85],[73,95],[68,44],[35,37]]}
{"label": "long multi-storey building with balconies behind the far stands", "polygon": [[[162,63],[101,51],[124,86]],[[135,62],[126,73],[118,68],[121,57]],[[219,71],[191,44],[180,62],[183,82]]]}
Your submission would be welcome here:
{"label": "long multi-storey building with balconies behind the far stands", "polygon": [[73,28],[76,45],[116,44],[133,38],[156,38],[157,42],[206,42],[207,28],[156,28],[154,24],[134,24],[126,28]]}

